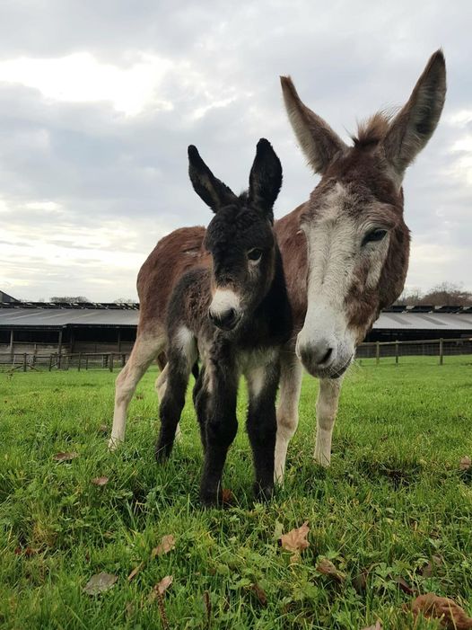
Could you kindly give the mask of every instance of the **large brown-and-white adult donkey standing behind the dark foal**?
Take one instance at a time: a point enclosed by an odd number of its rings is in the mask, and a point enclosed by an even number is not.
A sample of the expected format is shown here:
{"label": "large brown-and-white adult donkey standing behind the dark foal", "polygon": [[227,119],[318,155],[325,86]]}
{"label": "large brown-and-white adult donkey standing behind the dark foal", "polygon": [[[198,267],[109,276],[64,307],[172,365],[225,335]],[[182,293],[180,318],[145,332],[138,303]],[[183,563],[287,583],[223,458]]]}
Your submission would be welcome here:
{"label": "large brown-and-white adult donkey standing behind the dark foal", "polygon": [[[298,424],[302,366],[297,357],[320,379],[314,457],[328,466],[345,369],[380,310],[403,289],[410,237],[403,217],[402,180],[440,119],[446,67],[438,50],[406,105],[393,118],[384,113],[372,116],[358,129],[354,146],[347,146],[302,103],[289,77],[281,81],[295,135],[321,179],[308,201],[275,223],[295,321],[292,342],[283,355],[277,409],[279,480]],[[156,245],[139,272],[139,325],[133,351],[117,379],[111,448],[124,439],[135,386],[165,349],[171,289],[188,269],[209,264],[204,237],[201,226],[172,232]],[[156,381],[158,394],[165,377],[164,368]]]}

